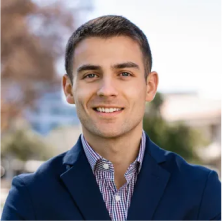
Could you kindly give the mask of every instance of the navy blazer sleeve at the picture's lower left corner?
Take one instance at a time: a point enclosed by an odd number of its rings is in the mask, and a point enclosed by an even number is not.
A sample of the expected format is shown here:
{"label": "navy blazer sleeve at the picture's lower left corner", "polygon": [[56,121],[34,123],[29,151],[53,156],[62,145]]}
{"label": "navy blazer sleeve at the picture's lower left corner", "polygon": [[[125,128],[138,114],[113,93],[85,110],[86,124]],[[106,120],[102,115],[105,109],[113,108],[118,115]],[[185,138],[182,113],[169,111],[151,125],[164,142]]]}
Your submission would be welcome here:
{"label": "navy blazer sleeve at the picture's lower left corner", "polygon": [[35,221],[32,202],[22,178],[15,177],[3,208],[1,221]]}

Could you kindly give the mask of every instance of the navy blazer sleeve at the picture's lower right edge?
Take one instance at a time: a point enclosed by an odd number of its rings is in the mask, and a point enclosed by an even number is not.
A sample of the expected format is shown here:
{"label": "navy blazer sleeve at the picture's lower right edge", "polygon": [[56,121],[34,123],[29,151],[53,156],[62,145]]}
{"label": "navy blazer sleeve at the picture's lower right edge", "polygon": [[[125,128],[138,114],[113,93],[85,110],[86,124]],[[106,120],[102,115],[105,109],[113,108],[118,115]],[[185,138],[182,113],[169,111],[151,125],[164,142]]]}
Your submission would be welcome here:
{"label": "navy blazer sleeve at the picture's lower right edge", "polygon": [[215,171],[208,175],[202,195],[198,221],[222,221],[222,183]]}

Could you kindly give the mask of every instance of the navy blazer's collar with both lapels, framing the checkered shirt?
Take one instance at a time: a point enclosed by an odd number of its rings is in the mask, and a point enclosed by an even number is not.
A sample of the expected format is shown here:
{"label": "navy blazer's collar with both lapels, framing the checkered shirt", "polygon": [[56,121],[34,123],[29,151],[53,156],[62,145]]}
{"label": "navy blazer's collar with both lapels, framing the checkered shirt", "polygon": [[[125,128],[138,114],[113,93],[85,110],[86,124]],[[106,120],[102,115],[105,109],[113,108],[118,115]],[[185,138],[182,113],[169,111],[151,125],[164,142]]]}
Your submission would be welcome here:
{"label": "navy blazer's collar with both lapels, framing the checkered shirt", "polygon": [[[160,165],[166,161],[166,153],[146,136],[146,150],[128,210],[128,221],[152,220],[170,178],[170,173]],[[63,163],[67,171],[60,177],[85,220],[110,221],[80,137],[66,153]]]}

